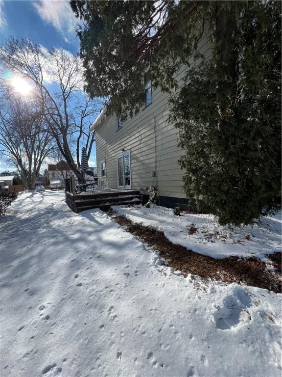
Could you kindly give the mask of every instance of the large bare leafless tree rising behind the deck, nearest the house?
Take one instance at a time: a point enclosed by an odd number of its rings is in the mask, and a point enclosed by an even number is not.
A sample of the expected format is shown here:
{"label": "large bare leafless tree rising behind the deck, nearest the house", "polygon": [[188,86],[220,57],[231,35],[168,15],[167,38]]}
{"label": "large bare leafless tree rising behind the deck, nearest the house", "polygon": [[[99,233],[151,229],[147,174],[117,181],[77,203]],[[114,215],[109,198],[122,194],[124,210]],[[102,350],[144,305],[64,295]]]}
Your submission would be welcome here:
{"label": "large bare leafless tree rising behind the deck, nearest the house", "polygon": [[90,120],[98,114],[100,102],[83,93],[85,81],[79,57],[62,49],[47,52],[30,40],[10,37],[0,49],[0,63],[34,83],[34,95],[40,99],[48,131],[72,171],[82,179],[80,147],[84,142],[90,156],[94,143]]}

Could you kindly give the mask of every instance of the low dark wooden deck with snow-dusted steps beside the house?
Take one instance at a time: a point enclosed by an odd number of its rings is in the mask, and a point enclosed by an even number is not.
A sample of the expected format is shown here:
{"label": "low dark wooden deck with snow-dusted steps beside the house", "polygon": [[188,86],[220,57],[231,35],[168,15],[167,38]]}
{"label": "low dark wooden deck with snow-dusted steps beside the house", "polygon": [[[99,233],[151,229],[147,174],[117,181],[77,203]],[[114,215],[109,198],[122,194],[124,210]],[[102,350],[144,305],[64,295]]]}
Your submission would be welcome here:
{"label": "low dark wooden deck with snow-dusted steps beside the house", "polygon": [[81,211],[99,208],[109,209],[112,205],[140,204],[141,194],[139,190],[121,190],[104,188],[94,193],[84,192],[72,195],[66,192],[66,203],[76,214]]}

